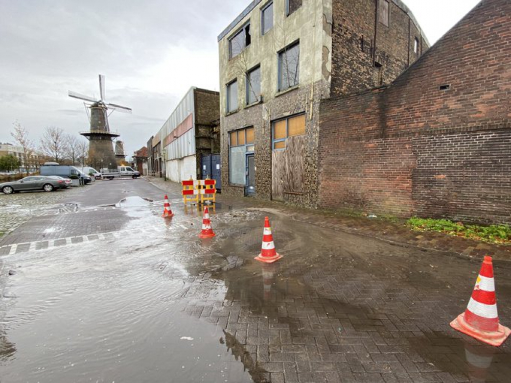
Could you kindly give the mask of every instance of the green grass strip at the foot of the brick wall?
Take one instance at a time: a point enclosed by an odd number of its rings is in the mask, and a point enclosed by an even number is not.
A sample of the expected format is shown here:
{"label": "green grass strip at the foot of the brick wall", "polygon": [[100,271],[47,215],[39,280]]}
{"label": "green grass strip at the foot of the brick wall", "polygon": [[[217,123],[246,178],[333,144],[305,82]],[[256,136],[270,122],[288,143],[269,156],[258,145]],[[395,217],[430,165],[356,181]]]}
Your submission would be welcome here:
{"label": "green grass strip at the foot of the brick wall", "polygon": [[417,217],[410,218],[406,224],[417,231],[437,231],[498,245],[511,244],[511,227],[508,225],[466,225],[462,222]]}

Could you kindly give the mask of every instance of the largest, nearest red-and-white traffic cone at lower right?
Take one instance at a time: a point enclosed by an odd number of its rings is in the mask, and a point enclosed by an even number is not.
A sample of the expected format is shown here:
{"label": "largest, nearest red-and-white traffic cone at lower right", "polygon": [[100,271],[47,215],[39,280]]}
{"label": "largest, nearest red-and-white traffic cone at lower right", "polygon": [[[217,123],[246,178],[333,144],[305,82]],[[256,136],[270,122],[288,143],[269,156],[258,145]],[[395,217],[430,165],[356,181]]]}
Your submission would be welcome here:
{"label": "largest, nearest red-and-white traffic cone at lower right", "polygon": [[451,327],[492,346],[500,346],[511,333],[499,323],[492,257],[484,257],[467,310]]}

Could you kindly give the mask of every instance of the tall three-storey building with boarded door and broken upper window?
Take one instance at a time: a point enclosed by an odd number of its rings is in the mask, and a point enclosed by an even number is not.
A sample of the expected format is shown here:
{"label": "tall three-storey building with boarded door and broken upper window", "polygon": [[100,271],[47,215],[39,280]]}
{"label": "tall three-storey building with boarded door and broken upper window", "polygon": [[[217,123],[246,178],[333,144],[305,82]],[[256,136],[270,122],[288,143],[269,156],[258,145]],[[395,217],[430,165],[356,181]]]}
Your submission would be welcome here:
{"label": "tall three-storey building with boarded door and broken upper window", "polygon": [[254,0],[218,37],[223,193],[316,206],[320,101],[428,49],[400,0]]}

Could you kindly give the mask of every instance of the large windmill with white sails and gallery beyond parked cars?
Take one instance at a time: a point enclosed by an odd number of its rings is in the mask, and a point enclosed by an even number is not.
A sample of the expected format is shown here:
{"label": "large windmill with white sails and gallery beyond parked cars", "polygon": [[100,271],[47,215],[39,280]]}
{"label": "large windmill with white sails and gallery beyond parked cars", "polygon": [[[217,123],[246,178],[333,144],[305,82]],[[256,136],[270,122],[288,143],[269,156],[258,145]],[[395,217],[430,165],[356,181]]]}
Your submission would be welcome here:
{"label": "large windmill with white sails and gallery beyond parked cars", "polygon": [[[131,113],[131,109],[105,102],[105,76],[103,75],[99,75],[99,90],[100,100],[95,100],[92,97],[71,90],[69,90],[69,97],[84,101],[85,110],[90,121],[90,130],[80,134],[89,140],[89,161],[91,164],[101,168],[117,167],[112,140],[119,137],[119,134],[110,131],[108,116],[114,110]],[[108,112],[109,110],[110,112]]]}

